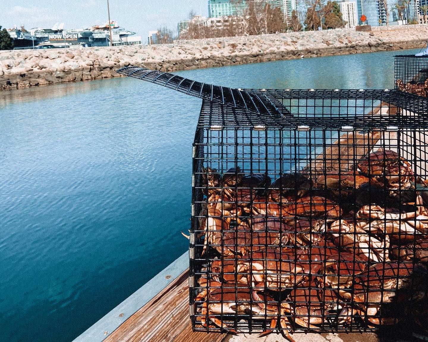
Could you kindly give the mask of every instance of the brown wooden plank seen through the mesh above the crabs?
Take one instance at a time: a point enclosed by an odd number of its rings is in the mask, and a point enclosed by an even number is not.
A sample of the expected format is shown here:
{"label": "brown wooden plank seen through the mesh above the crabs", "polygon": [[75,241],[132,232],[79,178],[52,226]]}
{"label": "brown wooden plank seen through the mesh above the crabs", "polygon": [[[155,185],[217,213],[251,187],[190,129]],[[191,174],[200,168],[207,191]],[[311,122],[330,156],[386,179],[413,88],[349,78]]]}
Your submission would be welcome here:
{"label": "brown wooden plank seen through the mesh above the crabs", "polygon": [[[382,102],[367,115],[396,115],[398,108]],[[340,139],[333,142],[324,152],[318,154],[315,159],[303,170],[311,170],[312,174],[324,173],[324,170],[348,171],[354,165],[355,160],[361,159],[381,139],[380,131],[367,134],[362,132],[344,133]],[[340,161],[340,162],[339,162]]]}

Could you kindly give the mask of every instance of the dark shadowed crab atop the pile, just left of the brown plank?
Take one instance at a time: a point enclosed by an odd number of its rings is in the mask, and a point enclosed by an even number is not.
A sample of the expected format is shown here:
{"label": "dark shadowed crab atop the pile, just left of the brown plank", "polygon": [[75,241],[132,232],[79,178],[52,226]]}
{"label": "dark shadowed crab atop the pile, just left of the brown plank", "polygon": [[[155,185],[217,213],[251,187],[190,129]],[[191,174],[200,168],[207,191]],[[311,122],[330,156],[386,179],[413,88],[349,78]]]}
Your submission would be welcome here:
{"label": "dark shadowed crab atop the pile, just left of the brown plank", "polygon": [[311,187],[311,180],[303,174],[283,174],[272,183],[270,195],[277,203],[288,204],[303,197]]}

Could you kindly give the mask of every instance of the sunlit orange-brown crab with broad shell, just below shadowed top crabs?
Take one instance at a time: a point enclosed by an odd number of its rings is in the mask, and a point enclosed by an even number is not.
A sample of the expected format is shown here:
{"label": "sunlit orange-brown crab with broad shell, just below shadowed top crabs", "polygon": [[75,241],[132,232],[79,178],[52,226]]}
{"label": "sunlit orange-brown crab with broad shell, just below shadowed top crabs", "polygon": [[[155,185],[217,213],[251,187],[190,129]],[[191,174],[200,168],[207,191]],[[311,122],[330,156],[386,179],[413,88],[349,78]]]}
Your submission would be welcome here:
{"label": "sunlit orange-brown crab with broad shell, just below shadowed top crabs", "polygon": [[[289,204],[285,208],[285,215],[288,215],[288,221],[294,221],[295,217],[321,217],[325,216],[326,221],[330,218],[338,218],[342,215],[342,209],[339,204],[320,196],[306,196],[299,198],[295,203]],[[287,218],[286,218],[287,219]]]}

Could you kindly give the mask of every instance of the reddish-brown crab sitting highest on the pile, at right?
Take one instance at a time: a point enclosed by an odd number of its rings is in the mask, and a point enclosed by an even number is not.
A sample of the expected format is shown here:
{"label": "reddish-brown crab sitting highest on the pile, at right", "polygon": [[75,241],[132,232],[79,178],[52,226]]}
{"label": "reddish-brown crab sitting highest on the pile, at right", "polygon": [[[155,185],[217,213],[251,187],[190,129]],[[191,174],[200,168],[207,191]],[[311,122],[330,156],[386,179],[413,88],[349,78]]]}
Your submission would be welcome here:
{"label": "reddish-brown crab sitting highest on the pile, at right", "polygon": [[369,178],[382,183],[398,195],[396,190],[408,189],[415,181],[411,164],[392,150],[378,149],[357,163],[358,170]]}

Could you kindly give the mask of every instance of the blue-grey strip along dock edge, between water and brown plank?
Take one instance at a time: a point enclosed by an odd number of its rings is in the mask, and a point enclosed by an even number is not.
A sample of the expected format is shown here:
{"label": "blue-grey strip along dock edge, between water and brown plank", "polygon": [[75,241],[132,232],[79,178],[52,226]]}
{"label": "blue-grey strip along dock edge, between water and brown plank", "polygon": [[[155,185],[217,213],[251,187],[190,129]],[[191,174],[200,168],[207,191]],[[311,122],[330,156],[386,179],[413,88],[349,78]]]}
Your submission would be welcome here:
{"label": "blue-grey strip along dock edge, between water and brown plank", "polygon": [[186,251],[181,257],[156,274],[155,277],[140,287],[140,289],[107,313],[107,315],[77,336],[73,342],[104,341],[104,339],[113,333],[122,323],[140,310],[188,267],[189,252]]}

